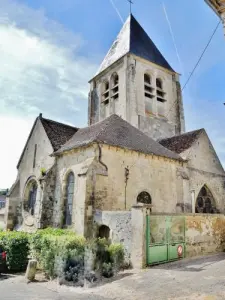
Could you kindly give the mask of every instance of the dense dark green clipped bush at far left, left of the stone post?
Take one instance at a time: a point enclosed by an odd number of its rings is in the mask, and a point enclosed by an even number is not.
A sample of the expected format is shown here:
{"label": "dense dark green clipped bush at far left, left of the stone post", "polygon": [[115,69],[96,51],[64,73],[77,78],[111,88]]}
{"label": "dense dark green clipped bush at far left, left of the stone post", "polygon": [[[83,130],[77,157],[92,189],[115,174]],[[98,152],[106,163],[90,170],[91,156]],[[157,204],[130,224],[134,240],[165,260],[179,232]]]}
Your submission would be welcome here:
{"label": "dense dark green clipped bush at far left, left of the stone post", "polygon": [[0,244],[7,253],[6,264],[10,271],[25,271],[29,254],[29,235],[24,232],[0,232]]}

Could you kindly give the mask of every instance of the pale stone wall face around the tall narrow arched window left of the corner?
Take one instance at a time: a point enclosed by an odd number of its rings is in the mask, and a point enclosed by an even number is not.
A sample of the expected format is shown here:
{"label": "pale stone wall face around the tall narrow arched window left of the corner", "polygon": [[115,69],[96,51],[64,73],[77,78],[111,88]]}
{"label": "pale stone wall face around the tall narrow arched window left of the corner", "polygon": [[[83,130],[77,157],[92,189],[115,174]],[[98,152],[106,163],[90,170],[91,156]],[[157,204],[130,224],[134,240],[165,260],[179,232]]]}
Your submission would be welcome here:
{"label": "pale stone wall face around the tall narrow arched window left of the corner", "polygon": [[[66,180],[69,172],[74,173],[74,202],[72,214],[72,226],[78,234],[85,234],[85,217],[87,187],[87,172],[95,158],[95,147],[77,149],[57,157],[57,176],[54,194],[53,224],[56,227],[62,225],[62,214],[64,211]],[[93,183],[92,183],[93,184]]]}

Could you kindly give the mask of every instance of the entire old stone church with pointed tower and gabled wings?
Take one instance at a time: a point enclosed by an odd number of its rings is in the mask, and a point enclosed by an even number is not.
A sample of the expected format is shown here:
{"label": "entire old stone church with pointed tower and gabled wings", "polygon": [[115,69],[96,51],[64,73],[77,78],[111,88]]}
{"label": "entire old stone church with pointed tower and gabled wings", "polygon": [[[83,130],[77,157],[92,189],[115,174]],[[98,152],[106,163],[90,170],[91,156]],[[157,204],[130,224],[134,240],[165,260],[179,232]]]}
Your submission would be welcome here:
{"label": "entire old stone church with pointed tower and gabled wings", "polygon": [[9,191],[7,228],[89,237],[96,214],[137,203],[152,214],[224,213],[219,158],[204,129],[185,131],[179,74],[133,15],[90,80],[88,101],[85,128],[35,120]]}

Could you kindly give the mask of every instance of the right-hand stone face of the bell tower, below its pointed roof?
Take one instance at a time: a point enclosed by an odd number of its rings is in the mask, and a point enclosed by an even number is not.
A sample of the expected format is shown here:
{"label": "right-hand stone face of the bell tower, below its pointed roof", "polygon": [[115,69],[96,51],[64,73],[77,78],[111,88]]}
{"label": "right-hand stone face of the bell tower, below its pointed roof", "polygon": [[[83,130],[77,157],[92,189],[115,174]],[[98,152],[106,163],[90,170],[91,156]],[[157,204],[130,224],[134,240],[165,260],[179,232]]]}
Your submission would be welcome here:
{"label": "right-hand stone face of the bell tower, below its pointed roof", "polygon": [[[129,65],[134,66],[134,71],[128,72],[128,99],[130,116],[127,119],[132,125],[139,127],[144,133],[154,138],[155,140],[165,137],[171,137],[175,134],[177,128],[181,132],[184,131],[184,113],[182,98],[178,98],[176,80],[179,81],[178,75],[156,66],[144,59],[131,56]],[[145,93],[144,93],[144,74],[151,76],[152,86],[156,90],[156,78],[163,81],[163,90],[166,92],[164,102],[165,118],[157,115],[157,100],[153,98],[153,115],[146,116],[145,114]],[[134,78],[133,78],[134,77]],[[179,101],[181,103],[174,101]],[[138,124],[139,116],[139,124]],[[179,132],[180,133],[180,132]]]}

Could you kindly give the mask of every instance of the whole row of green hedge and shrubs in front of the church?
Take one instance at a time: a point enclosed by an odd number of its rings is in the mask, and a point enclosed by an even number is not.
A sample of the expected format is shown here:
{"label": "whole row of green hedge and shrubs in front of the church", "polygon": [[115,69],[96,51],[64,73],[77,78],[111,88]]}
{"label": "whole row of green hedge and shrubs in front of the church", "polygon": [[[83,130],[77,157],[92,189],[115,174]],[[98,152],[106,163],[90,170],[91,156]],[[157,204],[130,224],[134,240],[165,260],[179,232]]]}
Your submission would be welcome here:
{"label": "whole row of green hedge and shrubs in front of the church", "polygon": [[124,261],[120,244],[110,244],[106,239],[86,241],[84,237],[62,229],[47,228],[33,234],[0,232],[0,245],[7,252],[9,270],[25,271],[28,259],[35,258],[46,277],[74,283],[84,278],[96,280],[93,273],[85,272],[87,255],[93,258],[93,270],[105,277],[113,276]]}

